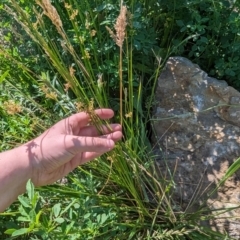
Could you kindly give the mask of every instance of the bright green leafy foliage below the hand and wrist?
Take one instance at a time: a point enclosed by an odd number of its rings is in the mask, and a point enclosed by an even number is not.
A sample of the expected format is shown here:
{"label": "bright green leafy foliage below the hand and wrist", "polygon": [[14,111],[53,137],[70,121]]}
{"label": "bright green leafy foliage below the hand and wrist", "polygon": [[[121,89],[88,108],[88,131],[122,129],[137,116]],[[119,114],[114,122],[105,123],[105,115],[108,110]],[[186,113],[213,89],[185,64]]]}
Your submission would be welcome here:
{"label": "bright green leafy foliage below the hand and wrist", "polygon": [[[87,180],[89,177],[81,184],[86,184]],[[61,190],[67,192],[66,187]],[[117,222],[117,212],[108,206],[97,206],[99,201],[94,196],[76,190],[74,193],[78,198],[67,197],[63,202],[55,193],[54,200],[46,201],[29,181],[27,193],[18,198],[20,204],[15,227],[6,230],[5,235],[28,236],[28,239],[92,239],[108,233],[108,239],[127,229],[123,226],[115,227],[114,232],[109,231]]]}

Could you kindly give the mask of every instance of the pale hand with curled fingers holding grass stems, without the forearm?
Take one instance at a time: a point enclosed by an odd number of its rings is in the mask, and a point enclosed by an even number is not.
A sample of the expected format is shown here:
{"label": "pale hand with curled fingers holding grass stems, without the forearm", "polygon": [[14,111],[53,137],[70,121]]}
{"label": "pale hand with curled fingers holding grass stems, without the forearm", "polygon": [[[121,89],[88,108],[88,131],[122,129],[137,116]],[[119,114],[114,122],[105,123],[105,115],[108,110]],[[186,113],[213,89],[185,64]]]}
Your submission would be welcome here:
{"label": "pale hand with curled fingers holding grass stems, without the forearm", "polygon": [[[101,119],[110,119],[114,115],[111,109],[98,109],[95,113]],[[23,145],[35,186],[57,181],[77,166],[112,150],[115,142],[122,138],[119,124],[110,124],[111,130],[103,126],[103,135],[99,135],[89,122],[87,113],[74,114]]]}

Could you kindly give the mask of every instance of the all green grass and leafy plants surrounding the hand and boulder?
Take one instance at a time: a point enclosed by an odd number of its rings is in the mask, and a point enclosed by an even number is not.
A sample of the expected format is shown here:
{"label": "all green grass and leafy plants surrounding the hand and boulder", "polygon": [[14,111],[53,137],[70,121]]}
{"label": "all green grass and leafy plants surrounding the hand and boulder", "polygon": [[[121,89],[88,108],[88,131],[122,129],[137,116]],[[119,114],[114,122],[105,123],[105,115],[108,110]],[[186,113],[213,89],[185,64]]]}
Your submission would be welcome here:
{"label": "all green grass and leafy plants surrounding the hand and boulder", "polygon": [[[214,218],[207,209],[187,213],[171,199],[177,183],[165,181],[156,169],[148,119],[170,55],[188,56],[238,87],[234,4],[3,1],[1,150],[72,113],[92,114],[98,107],[115,110],[124,139],[55,185],[34,189],[28,182],[27,194],[0,215],[2,237],[230,239],[200,227],[200,221]],[[100,124],[94,116],[93,121]]]}

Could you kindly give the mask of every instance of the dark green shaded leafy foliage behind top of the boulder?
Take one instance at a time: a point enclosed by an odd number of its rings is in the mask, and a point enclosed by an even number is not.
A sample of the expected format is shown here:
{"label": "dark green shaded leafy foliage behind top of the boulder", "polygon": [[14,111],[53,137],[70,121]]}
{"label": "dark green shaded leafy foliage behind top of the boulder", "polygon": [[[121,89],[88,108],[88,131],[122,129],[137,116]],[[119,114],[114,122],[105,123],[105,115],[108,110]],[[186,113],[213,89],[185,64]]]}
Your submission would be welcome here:
{"label": "dark green shaded leafy foliage behind top of the boulder", "polygon": [[[232,3],[231,3],[232,2]],[[161,47],[185,56],[240,89],[239,1],[161,1]],[[184,44],[181,43],[193,36]]]}

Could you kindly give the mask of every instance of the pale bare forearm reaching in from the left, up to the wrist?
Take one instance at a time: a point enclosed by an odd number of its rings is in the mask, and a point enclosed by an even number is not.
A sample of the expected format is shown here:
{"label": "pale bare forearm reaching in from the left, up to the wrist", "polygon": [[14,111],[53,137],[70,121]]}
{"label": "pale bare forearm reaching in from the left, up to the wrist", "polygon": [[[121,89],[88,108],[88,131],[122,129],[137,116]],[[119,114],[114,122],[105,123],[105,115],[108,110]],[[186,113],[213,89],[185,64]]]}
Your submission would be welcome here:
{"label": "pale bare forearm reaching in from the left, up to the wrist", "polygon": [[25,192],[31,178],[29,161],[23,146],[0,153],[0,212]]}

